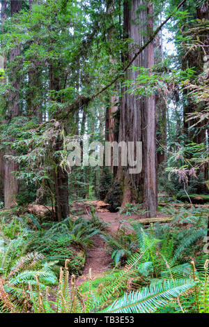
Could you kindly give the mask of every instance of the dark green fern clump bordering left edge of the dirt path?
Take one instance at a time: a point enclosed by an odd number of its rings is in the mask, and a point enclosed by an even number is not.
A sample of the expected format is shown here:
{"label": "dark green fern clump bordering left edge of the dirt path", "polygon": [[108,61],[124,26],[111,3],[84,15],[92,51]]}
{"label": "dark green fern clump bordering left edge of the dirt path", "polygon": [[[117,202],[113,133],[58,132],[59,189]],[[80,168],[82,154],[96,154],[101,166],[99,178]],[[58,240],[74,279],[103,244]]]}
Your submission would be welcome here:
{"label": "dark green fern clump bordering left edge of the dirt path", "polygon": [[70,259],[70,273],[82,273],[85,250],[93,244],[91,237],[98,230],[93,229],[91,223],[82,218],[74,222],[67,219],[50,225],[48,229],[40,229],[31,234],[29,247],[43,253],[48,260],[56,260],[56,273],[59,273],[59,266],[64,265],[65,259]]}

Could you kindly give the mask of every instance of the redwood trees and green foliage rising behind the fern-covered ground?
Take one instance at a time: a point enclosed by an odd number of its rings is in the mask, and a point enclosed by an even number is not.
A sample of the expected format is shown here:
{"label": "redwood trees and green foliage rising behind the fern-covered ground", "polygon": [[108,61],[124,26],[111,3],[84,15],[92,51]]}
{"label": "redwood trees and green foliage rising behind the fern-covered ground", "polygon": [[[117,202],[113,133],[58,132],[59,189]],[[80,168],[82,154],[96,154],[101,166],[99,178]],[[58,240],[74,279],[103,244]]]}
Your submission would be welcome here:
{"label": "redwood trees and green foliage rising behind the fern-covered ground", "polygon": [[[96,197],[113,211],[143,203],[154,217],[157,183],[169,196],[208,194],[208,3],[183,1],[175,13],[177,6],[1,1],[0,195],[7,208],[49,202],[61,220],[69,199]],[[63,144],[75,135],[141,141],[142,172],[69,171]]]}

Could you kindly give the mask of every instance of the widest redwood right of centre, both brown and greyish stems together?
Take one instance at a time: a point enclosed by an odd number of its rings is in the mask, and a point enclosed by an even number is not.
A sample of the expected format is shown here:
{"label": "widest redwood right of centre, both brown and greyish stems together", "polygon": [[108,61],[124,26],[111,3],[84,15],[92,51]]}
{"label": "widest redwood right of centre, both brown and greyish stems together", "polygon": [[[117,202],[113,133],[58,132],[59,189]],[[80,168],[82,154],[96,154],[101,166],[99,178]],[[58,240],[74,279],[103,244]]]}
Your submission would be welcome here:
{"label": "widest redwood right of centre, both brown and greyish stems together", "polygon": [[[144,3],[141,0],[125,1],[124,3],[124,36],[132,38],[134,45],[142,45],[153,31],[152,4],[147,10],[140,10]],[[140,10],[140,11],[139,11]],[[148,17],[148,27],[146,27]],[[126,60],[132,59],[134,50],[129,48]],[[150,68],[154,64],[153,43],[145,52],[135,59],[133,66]],[[129,71],[126,79],[136,79],[139,73]],[[155,158],[155,97],[139,99],[127,93],[123,87],[123,98],[120,111],[120,126],[118,141],[143,143],[143,169],[139,174],[130,174],[129,167],[118,167],[118,181],[122,185],[122,206],[126,202],[144,202],[148,217],[156,214],[157,208],[157,177]]]}

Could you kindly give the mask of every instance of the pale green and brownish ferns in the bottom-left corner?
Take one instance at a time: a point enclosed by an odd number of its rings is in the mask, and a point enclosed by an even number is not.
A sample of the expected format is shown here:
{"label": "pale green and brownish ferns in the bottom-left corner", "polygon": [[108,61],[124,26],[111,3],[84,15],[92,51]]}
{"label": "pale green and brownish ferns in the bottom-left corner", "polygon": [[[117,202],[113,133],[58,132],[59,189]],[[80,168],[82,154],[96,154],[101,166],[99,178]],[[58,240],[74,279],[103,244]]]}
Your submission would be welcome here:
{"label": "pale green and brownish ferns in the bottom-left corner", "polygon": [[[0,279],[3,291],[0,292],[0,307],[8,307],[10,299],[14,310],[20,310],[27,301],[29,282],[35,284],[34,277],[40,275],[40,286],[56,283],[52,272],[53,262],[49,263],[38,252],[26,252],[27,243],[23,236],[7,241],[0,249]],[[6,295],[3,296],[3,293]],[[15,309],[16,306],[16,309]]]}

